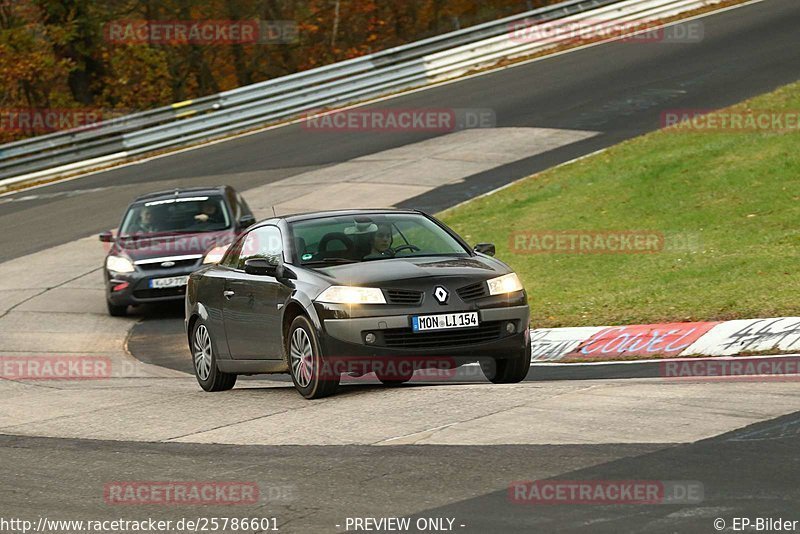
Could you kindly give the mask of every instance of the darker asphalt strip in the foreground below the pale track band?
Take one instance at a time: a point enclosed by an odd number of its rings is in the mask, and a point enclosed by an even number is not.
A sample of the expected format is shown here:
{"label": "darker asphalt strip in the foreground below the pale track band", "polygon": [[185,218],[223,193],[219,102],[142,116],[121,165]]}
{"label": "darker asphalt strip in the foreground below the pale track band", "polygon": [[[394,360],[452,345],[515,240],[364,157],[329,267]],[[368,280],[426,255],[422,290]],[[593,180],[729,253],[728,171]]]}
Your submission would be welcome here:
{"label": "darker asphalt strip in the foreground below the pale track band", "polygon": [[[62,519],[247,515],[277,517],[281,532],[335,532],[346,517],[398,515],[455,518],[456,532],[713,532],[716,518],[797,519],[798,445],[800,412],[692,444],[276,448],[2,437],[0,462],[13,467],[0,471],[0,499],[6,515],[26,518],[42,510]],[[275,497],[244,513],[103,501],[103,485],[121,476],[198,473],[261,480]],[[704,502],[530,506],[508,500],[509,480],[520,479],[697,480]]]}

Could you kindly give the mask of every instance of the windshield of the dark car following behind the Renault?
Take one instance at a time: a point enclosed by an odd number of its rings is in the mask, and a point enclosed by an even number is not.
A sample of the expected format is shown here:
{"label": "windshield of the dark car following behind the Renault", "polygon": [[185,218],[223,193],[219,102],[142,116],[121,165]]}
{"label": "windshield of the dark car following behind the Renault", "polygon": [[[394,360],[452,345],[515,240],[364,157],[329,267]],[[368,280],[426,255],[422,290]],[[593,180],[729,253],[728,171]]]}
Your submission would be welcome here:
{"label": "windshield of the dark car following behind the Renault", "polygon": [[120,235],[215,232],[230,226],[222,197],[170,198],[131,206],[125,214]]}

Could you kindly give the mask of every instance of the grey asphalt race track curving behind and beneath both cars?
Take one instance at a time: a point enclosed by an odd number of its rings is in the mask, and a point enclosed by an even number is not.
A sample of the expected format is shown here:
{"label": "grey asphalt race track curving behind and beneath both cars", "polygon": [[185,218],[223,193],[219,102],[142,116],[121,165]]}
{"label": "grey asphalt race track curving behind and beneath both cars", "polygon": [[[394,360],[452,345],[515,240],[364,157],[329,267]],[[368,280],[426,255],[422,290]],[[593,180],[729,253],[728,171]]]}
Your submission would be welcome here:
{"label": "grey asphalt race track curving behind and beneath both cars", "polygon": [[[451,518],[453,531],[476,533],[714,532],[717,519],[728,529],[737,517],[800,520],[794,382],[670,381],[657,378],[657,364],[535,366],[513,386],[465,372],[436,386],[355,381],[308,402],[276,377],[211,395],[188,374],[180,305],[120,319],[102,301],[93,236],[115,227],[137,194],[229,183],[252,191],[263,214],[281,184],[290,187],[276,204],[291,207],[295,194],[320,202],[323,185],[360,184],[348,181],[352,169],[384,172],[391,160],[402,176],[420,164],[409,152],[433,161],[446,149],[437,161],[448,179],[417,187],[410,176],[382,197],[437,211],[657,129],[664,109],[723,107],[800,78],[796,0],[701,20],[701,43],[603,44],[372,105],[491,109],[496,128],[485,132],[290,125],[1,196],[0,354],[103,354],[115,373],[0,380],[0,519],[274,517],[280,532],[300,533],[345,531],[348,517]],[[485,158],[464,156],[481,147],[491,148]],[[354,188],[356,200],[395,184],[398,174],[386,172],[387,183]],[[514,481],[589,479],[694,481],[703,496],[556,506],[509,498]],[[247,481],[260,497],[110,504],[104,488],[120,481]]]}

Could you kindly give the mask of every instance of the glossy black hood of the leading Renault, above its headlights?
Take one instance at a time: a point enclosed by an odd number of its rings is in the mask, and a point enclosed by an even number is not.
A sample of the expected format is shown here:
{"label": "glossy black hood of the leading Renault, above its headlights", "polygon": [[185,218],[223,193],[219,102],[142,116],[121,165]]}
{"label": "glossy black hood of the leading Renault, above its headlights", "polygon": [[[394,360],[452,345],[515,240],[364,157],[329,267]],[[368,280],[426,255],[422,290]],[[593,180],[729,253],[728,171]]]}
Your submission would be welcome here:
{"label": "glossy black hood of the leading Renault, above its headlights", "polygon": [[317,268],[334,285],[385,285],[417,278],[459,277],[488,280],[511,272],[504,263],[486,256],[395,258]]}

